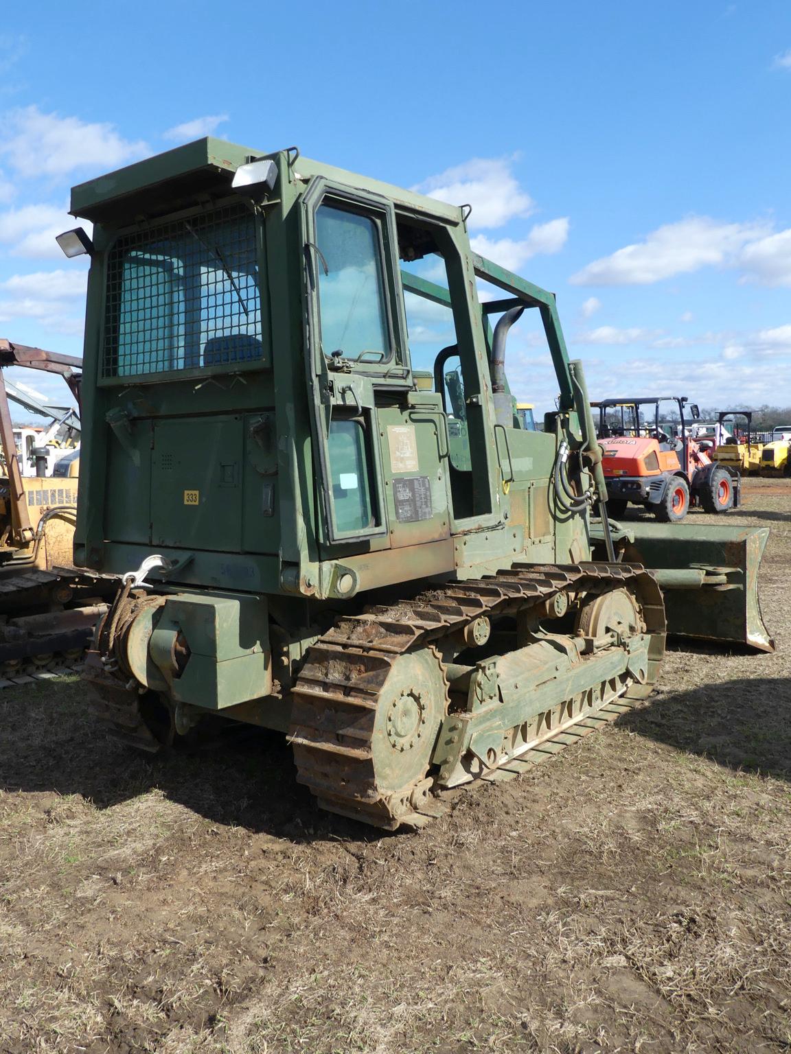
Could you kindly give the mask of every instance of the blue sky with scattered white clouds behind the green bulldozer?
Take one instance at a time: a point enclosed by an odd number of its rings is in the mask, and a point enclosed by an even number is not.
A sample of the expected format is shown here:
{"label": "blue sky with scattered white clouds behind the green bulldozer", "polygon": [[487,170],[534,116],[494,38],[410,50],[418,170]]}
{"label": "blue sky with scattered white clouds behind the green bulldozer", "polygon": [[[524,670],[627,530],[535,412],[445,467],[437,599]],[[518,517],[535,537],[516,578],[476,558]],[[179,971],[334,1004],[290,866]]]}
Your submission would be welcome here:
{"label": "blue sky with scattered white clouds behind the green bulldozer", "polygon": [[[79,354],[70,187],[212,133],[471,201],[476,247],[557,293],[593,396],[787,406],[790,118],[785,0],[6,5],[0,336]],[[549,408],[529,324],[508,353]]]}

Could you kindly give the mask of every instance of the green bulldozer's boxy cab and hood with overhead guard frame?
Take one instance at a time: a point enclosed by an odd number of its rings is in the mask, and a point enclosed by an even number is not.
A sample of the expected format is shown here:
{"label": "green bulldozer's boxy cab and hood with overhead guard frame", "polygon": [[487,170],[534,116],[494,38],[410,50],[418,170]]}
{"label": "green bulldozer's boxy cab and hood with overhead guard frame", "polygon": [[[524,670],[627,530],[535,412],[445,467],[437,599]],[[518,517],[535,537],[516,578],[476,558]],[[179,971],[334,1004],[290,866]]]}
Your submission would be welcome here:
{"label": "green bulldozer's boxy cab and hood with overhead guard frame", "polygon": [[[472,253],[464,210],[211,139],[117,175],[73,192],[94,222],[80,560],[155,547],[170,582],[328,599],[590,554],[583,510],[553,515],[583,406],[554,296]],[[548,433],[502,366],[523,311],[557,375]]]}

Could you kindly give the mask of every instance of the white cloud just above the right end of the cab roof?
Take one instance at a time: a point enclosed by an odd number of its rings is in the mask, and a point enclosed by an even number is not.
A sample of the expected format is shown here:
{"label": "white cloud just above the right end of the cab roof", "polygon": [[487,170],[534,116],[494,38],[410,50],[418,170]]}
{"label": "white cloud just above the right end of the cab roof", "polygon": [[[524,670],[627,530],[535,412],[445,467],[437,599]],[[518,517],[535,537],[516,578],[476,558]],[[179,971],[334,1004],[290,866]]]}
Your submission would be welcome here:
{"label": "white cloud just above the right end of the cab roof", "polygon": [[474,157],[429,176],[412,190],[448,204],[470,204],[470,227],[502,227],[535,211],[533,198],[522,190],[512,171],[513,163],[513,158]]}

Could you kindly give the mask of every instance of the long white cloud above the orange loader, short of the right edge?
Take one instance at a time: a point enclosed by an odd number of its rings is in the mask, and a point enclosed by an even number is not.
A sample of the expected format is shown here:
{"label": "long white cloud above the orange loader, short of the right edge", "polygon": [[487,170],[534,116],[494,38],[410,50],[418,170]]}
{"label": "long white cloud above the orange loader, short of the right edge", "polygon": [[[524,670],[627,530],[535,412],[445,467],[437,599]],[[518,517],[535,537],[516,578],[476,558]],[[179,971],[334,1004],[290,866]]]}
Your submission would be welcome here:
{"label": "long white cloud above the orange loader, short of the right edge", "polygon": [[689,216],[652,231],[644,241],[624,246],[572,275],[575,286],[644,286],[701,267],[733,264],[749,241],[766,237],[763,222],[720,223]]}

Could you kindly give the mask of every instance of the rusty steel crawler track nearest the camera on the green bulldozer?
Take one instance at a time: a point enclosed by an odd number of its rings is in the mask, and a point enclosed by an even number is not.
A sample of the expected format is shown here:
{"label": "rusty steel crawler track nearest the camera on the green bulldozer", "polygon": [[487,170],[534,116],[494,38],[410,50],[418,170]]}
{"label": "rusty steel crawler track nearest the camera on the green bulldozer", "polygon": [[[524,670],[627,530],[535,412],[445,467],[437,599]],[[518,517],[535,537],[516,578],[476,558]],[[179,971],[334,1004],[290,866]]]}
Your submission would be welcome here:
{"label": "rusty steel crawler track nearest the camera on the green bulldozer", "polygon": [[[645,588],[647,580],[650,588]],[[387,829],[423,826],[446,807],[435,779],[424,780],[406,800],[399,795],[388,797],[377,783],[373,729],[380,691],[396,660],[424,648],[433,649],[439,657],[437,644],[443,638],[463,631],[481,616],[514,614],[560,592],[589,598],[640,584],[648,631],[663,635],[664,616],[656,583],[641,566],[621,564],[517,564],[490,578],[452,583],[411,601],[371,606],[360,616],[340,618],[309,649],[293,688],[289,740],[298,782],[330,812]],[[649,684],[655,680],[657,666],[655,661]],[[598,705],[576,714],[555,707],[558,714],[547,719],[554,727],[526,744],[518,757],[501,759],[481,778],[510,779],[579,741],[630,709],[632,704],[624,696],[633,687],[624,682],[607,694],[596,686]],[[645,694],[636,692],[639,697]]]}

